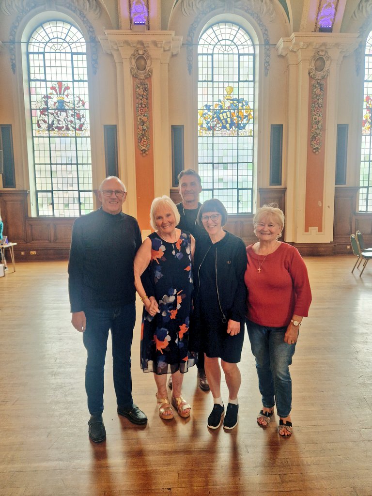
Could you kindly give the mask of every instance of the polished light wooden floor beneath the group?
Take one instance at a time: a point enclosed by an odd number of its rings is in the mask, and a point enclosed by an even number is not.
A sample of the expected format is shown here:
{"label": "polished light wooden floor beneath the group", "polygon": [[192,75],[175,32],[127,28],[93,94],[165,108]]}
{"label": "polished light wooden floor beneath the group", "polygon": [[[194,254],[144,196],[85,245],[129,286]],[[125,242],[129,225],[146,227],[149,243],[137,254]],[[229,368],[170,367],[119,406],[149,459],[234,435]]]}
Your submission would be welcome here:
{"label": "polished light wooden floor beneath the group", "polygon": [[0,279],[0,495],[371,496],[372,264],[359,278],[351,256],[306,263],[313,303],[291,367],[290,439],[279,438],[277,418],[256,425],[247,336],[234,431],[208,431],[211,394],[196,387],[195,368],[183,390],[191,418],[160,420],[152,374],[139,368],[138,305],[133,396],[148,424],[118,417],[109,346],[99,445],[87,435],[85,349],[70,325],[66,263],[9,269]]}

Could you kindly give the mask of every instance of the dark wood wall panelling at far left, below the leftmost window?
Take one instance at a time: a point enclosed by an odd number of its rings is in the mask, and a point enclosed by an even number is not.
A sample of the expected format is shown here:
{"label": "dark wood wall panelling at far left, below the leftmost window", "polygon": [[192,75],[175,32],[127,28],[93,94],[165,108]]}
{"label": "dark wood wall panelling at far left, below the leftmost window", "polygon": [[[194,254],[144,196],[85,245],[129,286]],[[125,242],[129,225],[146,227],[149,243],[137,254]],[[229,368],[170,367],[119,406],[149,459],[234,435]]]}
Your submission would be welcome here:
{"label": "dark wood wall panelling at far left, below the leftmost window", "polygon": [[25,190],[0,191],[4,234],[17,243],[16,261],[67,259],[75,217],[28,217],[27,197]]}

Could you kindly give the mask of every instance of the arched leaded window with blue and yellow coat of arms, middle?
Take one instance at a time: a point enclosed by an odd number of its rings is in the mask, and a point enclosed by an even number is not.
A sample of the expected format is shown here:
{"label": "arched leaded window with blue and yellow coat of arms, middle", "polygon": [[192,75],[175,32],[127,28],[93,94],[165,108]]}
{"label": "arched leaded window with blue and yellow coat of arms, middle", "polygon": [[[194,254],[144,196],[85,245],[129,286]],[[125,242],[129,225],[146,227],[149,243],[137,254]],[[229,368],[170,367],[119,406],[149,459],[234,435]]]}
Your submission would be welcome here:
{"label": "arched leaded window with blue and yellow coat of arms, middle", "polygon": [[220,22],[198,43],[198,168],[201,200],[251,213],[254,47],[240,26]]}

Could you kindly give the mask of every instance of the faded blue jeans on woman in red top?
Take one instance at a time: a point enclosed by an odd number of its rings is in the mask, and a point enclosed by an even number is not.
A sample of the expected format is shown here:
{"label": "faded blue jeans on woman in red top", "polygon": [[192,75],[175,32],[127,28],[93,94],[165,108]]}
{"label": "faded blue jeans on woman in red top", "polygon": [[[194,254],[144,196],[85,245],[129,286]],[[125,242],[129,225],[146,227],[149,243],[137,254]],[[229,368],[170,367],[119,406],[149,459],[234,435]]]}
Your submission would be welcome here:
{"label": "faded blue jeans on woman in red top", "polygon": [[284,342],[285,327],[264,327],[246,319],[250,348],[256,359],[258,387],[262,405],[275,405],[279,417],[285,418],[292,408],[292,380],[289,366],[296,343]]}

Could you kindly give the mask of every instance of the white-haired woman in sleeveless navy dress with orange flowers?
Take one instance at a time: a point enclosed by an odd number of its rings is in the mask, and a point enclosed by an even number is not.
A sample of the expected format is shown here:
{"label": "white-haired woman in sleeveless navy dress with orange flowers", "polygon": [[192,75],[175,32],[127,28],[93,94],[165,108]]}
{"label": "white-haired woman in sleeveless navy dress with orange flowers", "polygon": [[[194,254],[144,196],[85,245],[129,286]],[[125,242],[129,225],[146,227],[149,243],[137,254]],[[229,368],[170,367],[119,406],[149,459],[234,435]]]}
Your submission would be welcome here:
{"label": "white-haired woman in sleeveless navy dress with orange flowers", "polygon": [[167,373],[172,374],[172,405],[186,418],[191,407],[181,393],[183,374],[196,361],[188,349],[195,240],[176,228],[180,214],[168,196],[153,200],[150,222],[155,232],[134,259],[135,285],[144,305],[141,368],[154,372],[159,416],[166,420],[173,418],[167,394]]}

